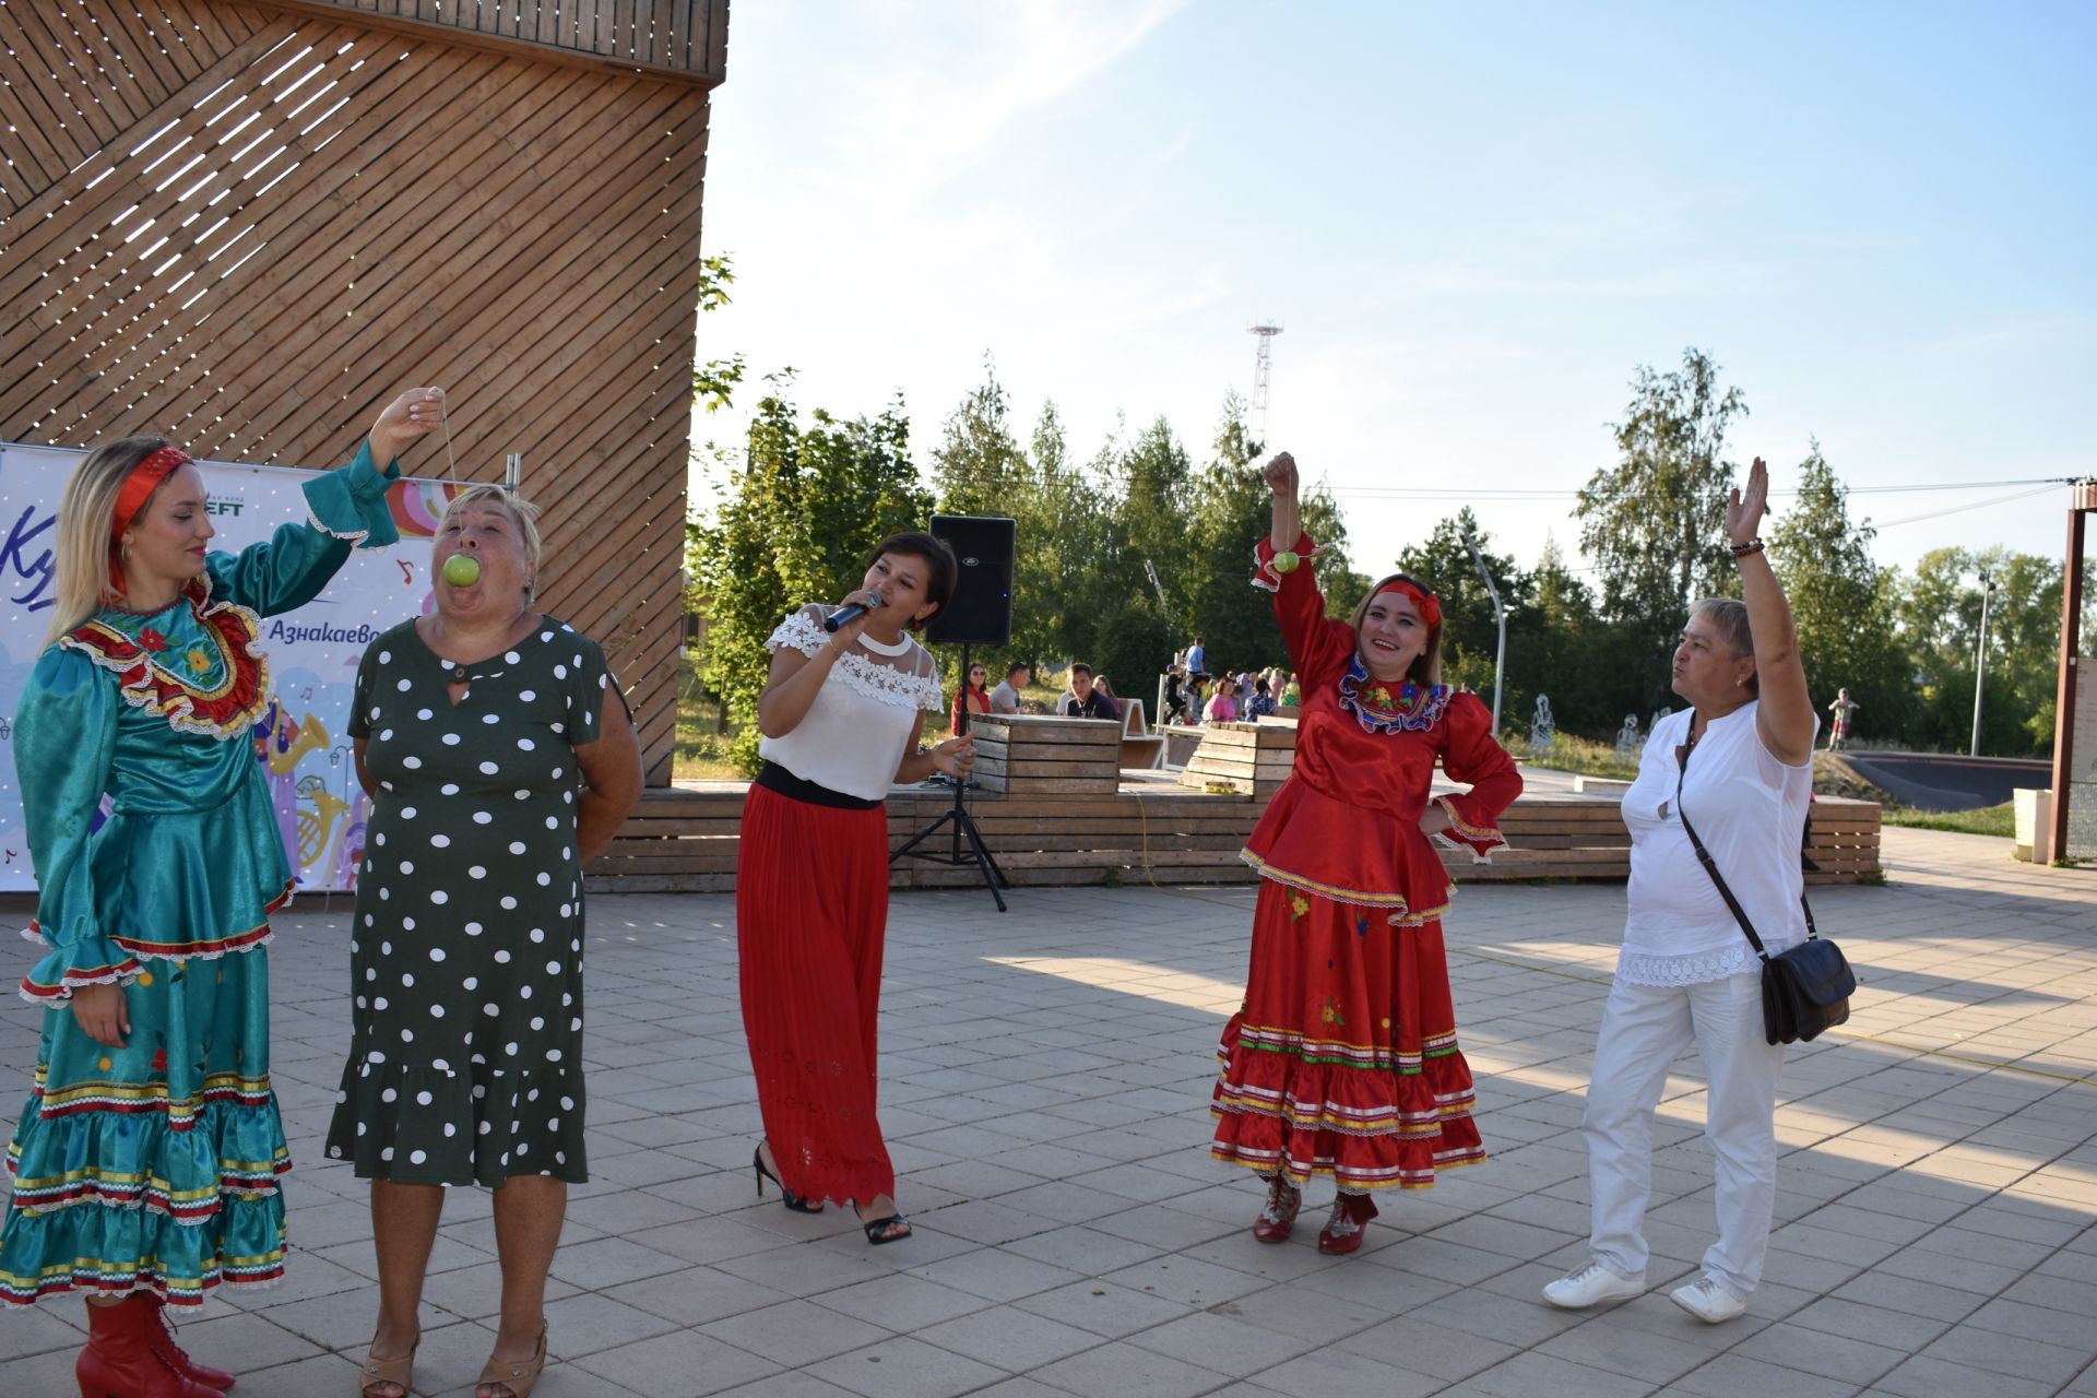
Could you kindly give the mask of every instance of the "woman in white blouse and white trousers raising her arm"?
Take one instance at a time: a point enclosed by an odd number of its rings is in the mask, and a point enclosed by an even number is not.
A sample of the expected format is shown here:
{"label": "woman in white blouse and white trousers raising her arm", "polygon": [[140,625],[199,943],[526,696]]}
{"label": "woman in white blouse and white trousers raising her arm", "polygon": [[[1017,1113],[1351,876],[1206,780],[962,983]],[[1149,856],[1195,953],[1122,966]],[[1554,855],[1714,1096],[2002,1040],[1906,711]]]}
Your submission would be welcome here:
{"label": "woman in white blouse and white trousers raising her arm", "polygon": [[1799,836],[1818,717],[1791,606],[1755,539],[1768,490],[1757,457],[1747,488],[1726,507],[1745,606],[1713,597],[1690,610],[1673,656],[1673,687],[1690,711],[1655,725],[1623,796],[1629,918],[1581,1119],[1590,1262],[1543,1287],[1552,1306],[1596,1306],[1646,1289],[1652,1113],[1669,1065],[1690,1046],[1703,1054],[1709,1086],[1717,1241],[1703,1255],[1703,1276],[1671,1297],[1701,1320],[1732,1320],[1761,1281],[1785,1050],[1764,1033],[1761,960],[1699,864],[1676,807],[1680,782],[1680,807],[1770,954],[1803,941]]}

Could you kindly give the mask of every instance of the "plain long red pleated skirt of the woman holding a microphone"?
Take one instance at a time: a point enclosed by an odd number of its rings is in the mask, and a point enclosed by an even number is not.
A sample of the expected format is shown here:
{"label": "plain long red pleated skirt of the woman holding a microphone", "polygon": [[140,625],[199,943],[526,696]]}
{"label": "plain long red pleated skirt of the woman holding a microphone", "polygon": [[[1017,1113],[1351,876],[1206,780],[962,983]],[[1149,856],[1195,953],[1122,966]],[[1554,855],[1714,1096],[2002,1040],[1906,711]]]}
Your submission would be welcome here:
{"label": "plain long red pleated skirt of the woman holding a microphone", "polygon": [[874,1115],[889,820],[751,786],[736,853],[742,1031],[765,1138],[807,1199],[895,1193]]}

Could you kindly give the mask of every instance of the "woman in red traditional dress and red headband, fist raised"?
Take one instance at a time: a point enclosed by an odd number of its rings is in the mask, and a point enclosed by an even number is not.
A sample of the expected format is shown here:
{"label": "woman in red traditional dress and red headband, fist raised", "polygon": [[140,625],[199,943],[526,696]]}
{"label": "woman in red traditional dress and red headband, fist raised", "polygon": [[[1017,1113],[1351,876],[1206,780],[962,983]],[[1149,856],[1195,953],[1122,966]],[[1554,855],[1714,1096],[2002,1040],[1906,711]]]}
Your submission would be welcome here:
{"label": "woman in red traditional dress and red headband, fist raised", "polygon": [[[1302,1186],[1340,1186],[1319,1251],[1350,1253],[1376,1218],[1371,1191],[1426,1188],[1485,1159],[1470,1067],[1455,1042],[1436,855],[1506,845],[1497,820],[1522,780],[1474,694],[1441,681],[1441,602],[1395,574],[1342,622],[1309,566],[1296,461],[1267,463],[1273,532],[1256,587],[1302,681],[1296,769],[1244,857],[1260,872],[1246,1004],[1223,1029],[1216,1159],[1269,1182],[1252,1232],[1290,1237]],[[1428,799],[1434,763],[1460,796]]]}

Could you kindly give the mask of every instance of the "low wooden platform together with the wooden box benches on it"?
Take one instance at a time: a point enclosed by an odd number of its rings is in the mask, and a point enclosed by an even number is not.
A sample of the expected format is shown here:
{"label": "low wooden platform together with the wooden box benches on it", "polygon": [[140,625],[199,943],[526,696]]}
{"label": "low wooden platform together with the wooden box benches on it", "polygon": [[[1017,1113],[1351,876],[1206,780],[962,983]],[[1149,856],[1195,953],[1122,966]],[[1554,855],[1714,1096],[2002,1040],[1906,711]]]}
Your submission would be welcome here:
{"label": "low wooden platform together with the wooden box benches on it", "polygon": [[[1237,851],[1288,776],[1292,723],[1206,729],[1187,771],[1118,771],[1120,729],[1093,719],[977,717],[977,788],[969,813],[1015,887],[1254,882]],[[1279,773],[1279,776],[1275,776]],[[1244,784],[1246,790],[1239,790]],[[992,790],[998,788],[998,790]],[[742,782],[652,790],[589,866],[598,893],[726,893],[736,884]],[[895,788],[889,849],[954,803],[952,788]],[[1445,851],[1457,882],[1615,880],[1631,874],[1631,838],[1613,794],[1525,794],[1501,820],[1510,849],[1491,864]],[[946,847],[946,834],[933,836]],[[1816,799],[1810,884],[1877,880],[1879,807]],[[895,889],[981,887],[973,866],[902,861]]]}

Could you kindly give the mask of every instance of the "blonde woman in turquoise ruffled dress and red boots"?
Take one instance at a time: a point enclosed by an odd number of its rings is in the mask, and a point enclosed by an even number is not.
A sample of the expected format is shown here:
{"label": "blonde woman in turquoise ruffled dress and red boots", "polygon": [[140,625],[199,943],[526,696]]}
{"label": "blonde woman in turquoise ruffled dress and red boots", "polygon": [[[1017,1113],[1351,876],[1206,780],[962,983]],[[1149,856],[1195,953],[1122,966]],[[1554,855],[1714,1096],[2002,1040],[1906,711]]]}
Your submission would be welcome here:
{"label": "blonde woman in turquoise ruffled dress and red boots", "polygon": [[164,438],[96,449],[59,503],[50,646],[13,740],[38,880],[25,935],[48,956],[21,983],[46,1008],[8,1144],[0,1299],[86,1293],[82,1394],[231,1388],[161,1308],[283,1274],[264,943],[294,880],[252,742],[260,616],[396,541],[394,457],[438,400],[388,405],[350,465],[306,482],[312,522],[241,553],[210,551],[203,476]]}

